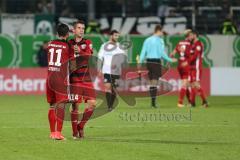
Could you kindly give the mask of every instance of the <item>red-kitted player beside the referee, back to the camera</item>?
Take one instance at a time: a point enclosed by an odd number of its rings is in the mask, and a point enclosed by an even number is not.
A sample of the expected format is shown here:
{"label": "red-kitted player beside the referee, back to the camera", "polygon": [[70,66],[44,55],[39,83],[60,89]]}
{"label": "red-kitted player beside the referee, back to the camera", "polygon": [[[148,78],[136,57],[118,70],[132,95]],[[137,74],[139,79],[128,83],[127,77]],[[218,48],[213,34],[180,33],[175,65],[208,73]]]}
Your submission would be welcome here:
{"label": "red-kitted player beside the referee, back to the camera", "polygon": [[180,41],[173,52],[170,54],[171,57],[174,57],[177,53],[179,55],[178,58],[178,72],[181,78],[181,89],[178,99],[178,107],[184,107],[183,100],[185,95],[187,95],[188,101],[190,101],[190,91],[188,90],[189,84],[189,58],[191,51],[191,38],[192,34],[190,30],[186,31],[186,38]]}

